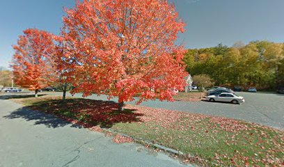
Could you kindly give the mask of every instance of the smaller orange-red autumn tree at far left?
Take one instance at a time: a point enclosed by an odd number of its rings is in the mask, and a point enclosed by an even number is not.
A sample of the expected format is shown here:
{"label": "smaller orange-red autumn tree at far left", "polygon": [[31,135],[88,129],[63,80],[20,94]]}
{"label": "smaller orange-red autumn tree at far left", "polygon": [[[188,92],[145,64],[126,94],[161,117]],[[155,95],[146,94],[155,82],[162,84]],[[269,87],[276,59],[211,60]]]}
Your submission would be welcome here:
{"label": "smaller orange-red autumn tree at far left", "polygon": [[13,46],[12,66],[15,83],[18,86],[38,90],[49,86],[54,81],[53,35],[38,29],[26,29],[24,35],[19,35],[17,45]]}

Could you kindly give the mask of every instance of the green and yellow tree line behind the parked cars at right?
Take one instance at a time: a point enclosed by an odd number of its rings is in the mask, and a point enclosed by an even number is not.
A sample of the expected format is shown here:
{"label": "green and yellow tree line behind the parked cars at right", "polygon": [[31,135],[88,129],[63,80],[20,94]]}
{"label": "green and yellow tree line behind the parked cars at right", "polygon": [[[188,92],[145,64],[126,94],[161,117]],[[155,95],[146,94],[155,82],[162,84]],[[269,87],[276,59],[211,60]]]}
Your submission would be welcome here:
{"label": "green and yellow tree line behind the parked cars at right", "polygon": [[284,44],[253,41],[232,47],[219,44],[205,49],[189,49],[184,56],[192,76],[207,74],[216,85],[255,86],[275,90],[284,85]]}

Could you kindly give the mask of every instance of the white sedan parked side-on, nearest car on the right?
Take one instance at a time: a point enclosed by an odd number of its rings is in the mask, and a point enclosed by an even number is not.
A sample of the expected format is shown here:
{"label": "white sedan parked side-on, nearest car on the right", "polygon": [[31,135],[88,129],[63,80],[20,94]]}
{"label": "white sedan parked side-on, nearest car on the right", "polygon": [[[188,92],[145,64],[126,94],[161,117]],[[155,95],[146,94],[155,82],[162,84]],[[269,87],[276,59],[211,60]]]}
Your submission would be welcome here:
{"label": "white sedan parked side-on, nearest car on the right", "polygon": [[232,102],[232,104],[241,104],[244,102],[244,97],[237,96],[233,93],[221,93],[220,95],[209,95],[206,97],[210,102]]}

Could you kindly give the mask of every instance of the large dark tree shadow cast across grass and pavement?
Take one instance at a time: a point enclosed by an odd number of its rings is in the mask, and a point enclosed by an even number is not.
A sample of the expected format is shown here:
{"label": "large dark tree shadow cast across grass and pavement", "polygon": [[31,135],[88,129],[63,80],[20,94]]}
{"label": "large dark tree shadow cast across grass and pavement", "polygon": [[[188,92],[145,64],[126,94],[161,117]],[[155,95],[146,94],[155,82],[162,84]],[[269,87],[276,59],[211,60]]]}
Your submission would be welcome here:
{"label": "large dark tree shadow cast across grass and pavement", "polygon": [[47,127],[63,127],[70,124],[70,122],[61,118],[70,118],[71,120],[83,122],[84,127],[100,126],[109,128],[113,124],[120,122],[141,122],[139,117],[143,116],[141,113],[135,113],[135,109],[124,109],[122,112],[118,112],[118,104],[116,102],[102,100],[49,100],[36,102],[28,107],[29,109],[24,107],[14,111],[9,116],[5,116],[5,118],[36,120],[35,125],[42,124]]}

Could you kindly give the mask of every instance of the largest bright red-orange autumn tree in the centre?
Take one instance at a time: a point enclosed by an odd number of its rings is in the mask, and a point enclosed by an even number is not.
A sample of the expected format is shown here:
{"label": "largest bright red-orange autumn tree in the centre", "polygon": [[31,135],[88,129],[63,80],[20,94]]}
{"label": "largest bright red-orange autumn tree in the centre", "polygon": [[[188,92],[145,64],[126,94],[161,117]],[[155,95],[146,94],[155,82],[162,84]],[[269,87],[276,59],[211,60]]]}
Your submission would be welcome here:
{"label": "largest bright red-orange autumn tree in the centre", "polygon": [[174,41],[184,31],[166,0],[85,0],[66,10],[62,36],[65,59],[76,87],[123,102],[173,100],[172,88],[185,85],[183,47]]}

